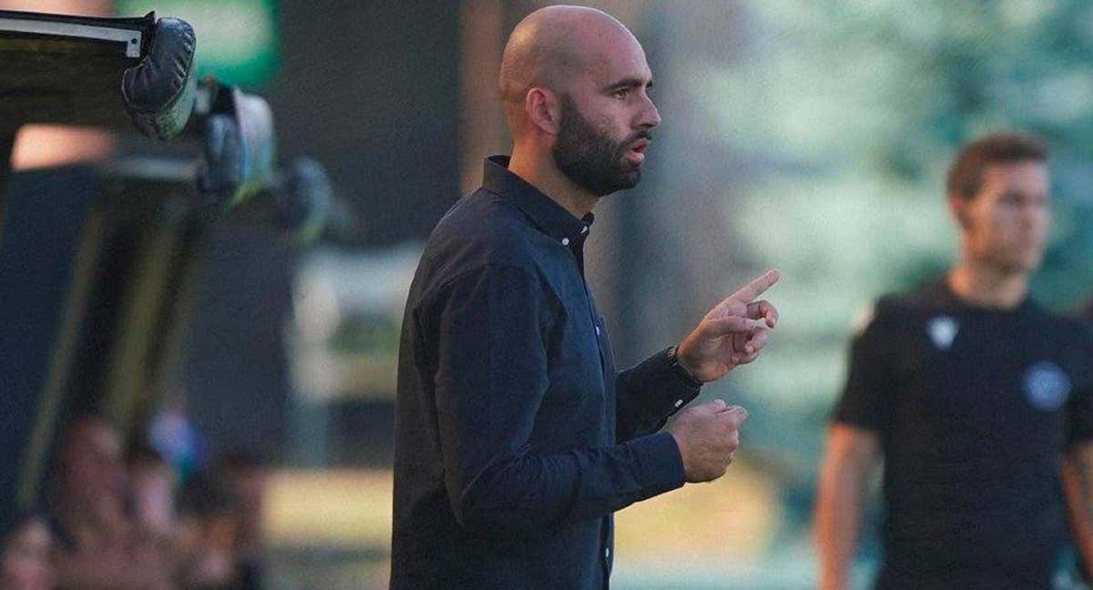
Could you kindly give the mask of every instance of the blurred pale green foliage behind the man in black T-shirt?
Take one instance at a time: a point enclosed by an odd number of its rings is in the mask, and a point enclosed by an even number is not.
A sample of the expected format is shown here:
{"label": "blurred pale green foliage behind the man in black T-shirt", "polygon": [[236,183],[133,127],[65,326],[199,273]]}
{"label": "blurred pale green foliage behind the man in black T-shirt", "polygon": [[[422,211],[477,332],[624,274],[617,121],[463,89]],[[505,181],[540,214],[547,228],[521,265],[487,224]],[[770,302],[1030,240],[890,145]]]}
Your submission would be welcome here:
{"label": "blurred pale green foliage behind the man in black T-shirt", "polygon": [[[1059,310],[1093,293],[1093,4],[742,5],[741,55],[689,64],[707,72],[694,104],[714,121],[708,132],[769,163],[727,202],[750,256],[784,271],[776,298],[788,321],[763,370],[736,385],[784,422],[803,422],[796,436],[761,433],[756,444],[814,464],[851,318],[952,260],[943,178],[962,143],[999,130],[1048,141],[1056,224],[1033,291]],[[814,436],[802,444],[800,433]]]}

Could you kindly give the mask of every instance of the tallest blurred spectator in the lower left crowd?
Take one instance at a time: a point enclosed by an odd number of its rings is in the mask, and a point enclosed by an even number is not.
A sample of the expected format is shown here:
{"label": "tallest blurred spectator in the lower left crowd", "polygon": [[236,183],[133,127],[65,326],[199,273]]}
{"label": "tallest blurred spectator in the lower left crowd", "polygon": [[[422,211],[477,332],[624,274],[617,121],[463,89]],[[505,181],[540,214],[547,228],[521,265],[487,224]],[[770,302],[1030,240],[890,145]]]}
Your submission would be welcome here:
{"label": "tallest blurred spectator in the lower left crowd", "polygon": [[172,547],[125,509],[121,436],[101,417],[77,420],[63,437],[52,510],[60,588],[173,588]]}

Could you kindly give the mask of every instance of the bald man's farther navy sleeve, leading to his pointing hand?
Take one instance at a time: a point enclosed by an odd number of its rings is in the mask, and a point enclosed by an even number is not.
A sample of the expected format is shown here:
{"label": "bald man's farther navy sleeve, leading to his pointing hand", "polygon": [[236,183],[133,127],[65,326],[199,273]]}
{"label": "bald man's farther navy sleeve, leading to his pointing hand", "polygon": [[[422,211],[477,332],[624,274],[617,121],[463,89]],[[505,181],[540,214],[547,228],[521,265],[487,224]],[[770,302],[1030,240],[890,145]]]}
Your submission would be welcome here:
{"label": "bald man's farther navy sleeve, leading to his pointing hand", "polygon": [[672,367],[667,349],[620,373],[615,379],[615,439],[630,440],[659,430],[672,414],[698,397],[700,389]]}

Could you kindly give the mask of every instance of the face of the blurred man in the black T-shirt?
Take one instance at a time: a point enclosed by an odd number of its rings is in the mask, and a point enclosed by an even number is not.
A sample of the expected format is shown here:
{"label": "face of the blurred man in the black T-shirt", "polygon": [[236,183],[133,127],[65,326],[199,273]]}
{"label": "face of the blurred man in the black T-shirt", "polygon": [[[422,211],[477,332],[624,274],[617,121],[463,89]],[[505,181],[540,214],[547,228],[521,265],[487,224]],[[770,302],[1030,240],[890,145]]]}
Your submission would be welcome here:
{"label": "face of the blurred man in the black T-shirt", "polygon": [[1044,257],[1051,223],[1047,166],[1035,161],[990,164],[979,193],[963,211],[968,253],[1007,272],[1031,272]]}

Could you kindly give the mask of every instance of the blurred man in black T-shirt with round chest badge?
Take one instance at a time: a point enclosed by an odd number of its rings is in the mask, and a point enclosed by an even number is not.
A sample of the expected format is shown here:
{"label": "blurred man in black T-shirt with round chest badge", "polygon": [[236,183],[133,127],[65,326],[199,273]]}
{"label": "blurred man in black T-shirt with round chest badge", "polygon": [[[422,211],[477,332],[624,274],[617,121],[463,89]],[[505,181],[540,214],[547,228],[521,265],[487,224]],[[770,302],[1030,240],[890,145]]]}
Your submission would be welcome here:
{"label": "blurred man in black T-shirt with round chest badge", "polygon": [[[1067,534],[1093,545],[1093,339],[1029,298],[1050,224],[1047,151],[997,134],[948,177],[960,228],[940,281],[883,297],[854,339],[819,484],[820,587],[847,587],[884,459],[881,589],[1049,588]],[[1089,562],[1089,559],[1086,559]]]}

